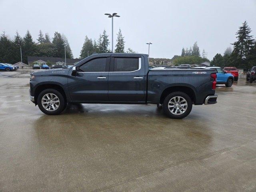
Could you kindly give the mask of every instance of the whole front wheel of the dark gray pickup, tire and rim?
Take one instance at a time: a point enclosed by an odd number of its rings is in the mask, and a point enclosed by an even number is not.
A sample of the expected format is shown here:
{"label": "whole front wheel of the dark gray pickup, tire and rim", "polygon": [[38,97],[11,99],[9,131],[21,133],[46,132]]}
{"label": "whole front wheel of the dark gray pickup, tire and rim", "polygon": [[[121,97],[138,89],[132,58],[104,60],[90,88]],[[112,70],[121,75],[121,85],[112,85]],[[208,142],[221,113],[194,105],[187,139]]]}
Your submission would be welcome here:
{"label": "whole front wheel of the dark gray pickup, tire and rim", "polygon": [[40,92],[37,98],[40,110],[47,115],[58,115],[65,108],[65,99],[55,89],[46,89]]}

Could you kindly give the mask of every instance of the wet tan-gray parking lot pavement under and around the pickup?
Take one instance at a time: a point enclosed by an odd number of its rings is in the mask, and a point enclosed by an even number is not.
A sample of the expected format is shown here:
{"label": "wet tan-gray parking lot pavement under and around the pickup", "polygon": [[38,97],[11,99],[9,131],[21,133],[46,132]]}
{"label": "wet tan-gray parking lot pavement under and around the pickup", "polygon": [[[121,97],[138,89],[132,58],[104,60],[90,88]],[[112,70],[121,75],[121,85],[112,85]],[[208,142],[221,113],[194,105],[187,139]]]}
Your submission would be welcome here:
{"label": "wet tan-gray parking lot pavement under and around the pickup", "polygon": [[256,191],[256,82],[173,120],[156,105],[77,104],[47,116],[31,70],[0,72],[0,191]]}

